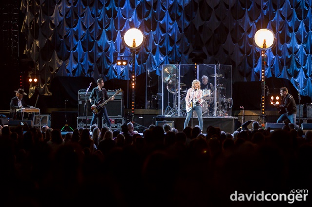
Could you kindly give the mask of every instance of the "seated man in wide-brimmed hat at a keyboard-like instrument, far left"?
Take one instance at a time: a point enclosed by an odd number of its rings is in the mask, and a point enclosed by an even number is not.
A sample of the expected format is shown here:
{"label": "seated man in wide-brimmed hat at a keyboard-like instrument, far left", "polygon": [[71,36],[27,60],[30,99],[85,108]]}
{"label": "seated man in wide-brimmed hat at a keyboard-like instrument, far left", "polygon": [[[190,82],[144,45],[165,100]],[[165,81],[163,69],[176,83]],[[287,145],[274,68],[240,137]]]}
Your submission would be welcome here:
{"label": "seated man in wide-brimmed hat at a keyboard-like instrument, far left", "polygon": [[[24,89],[19,88],[18,90],[15,90],[15,97],[11,99],[10,102],[10,114],[9,118],[13,119],[20,119],[21,117],[18,116],[17,109],[28,107],[33,108],[33,106],[29,106],[26,104],[25,100],[23,99],[24,96],[27,96],[27,93],[24,92]],[[28,119],[31,119],[31,115],[28,117]]]}

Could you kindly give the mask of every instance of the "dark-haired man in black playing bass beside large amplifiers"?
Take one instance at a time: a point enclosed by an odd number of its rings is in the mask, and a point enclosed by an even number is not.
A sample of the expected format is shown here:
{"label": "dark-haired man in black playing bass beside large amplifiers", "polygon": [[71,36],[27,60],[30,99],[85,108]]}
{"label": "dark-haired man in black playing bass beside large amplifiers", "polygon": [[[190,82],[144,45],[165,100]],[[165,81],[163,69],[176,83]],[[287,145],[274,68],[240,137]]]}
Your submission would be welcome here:
{"label": "dark-haired man in black playing bass beside large amplifiers", "polygon": [[[114,100],[115,97],[112,96],[111,98],[109,98],[106,89],[103,87],[104,86],[104,81],[102,78],[97,80],[97,87],[92,89],[92,92],[90,94],[89,97],[89,101],[92,104],[92,107],[96,107],[97,105],[101,104],[102,102],[104,102],[104,100]],[[95,101],[93,101],[93,99]],[[106,110],[106,107],[103,106],[103,108],[98,111],[98,113],[93,113],[92,114],[92,120],[91,120],[91,125],[96,124],[96,120],[98,118],[98,128],[102,128],[102,117],[104,116],[106,124],[109,128],[111,128],[111,121],[109,121],[109,117],[108,117],[108,113]]]}

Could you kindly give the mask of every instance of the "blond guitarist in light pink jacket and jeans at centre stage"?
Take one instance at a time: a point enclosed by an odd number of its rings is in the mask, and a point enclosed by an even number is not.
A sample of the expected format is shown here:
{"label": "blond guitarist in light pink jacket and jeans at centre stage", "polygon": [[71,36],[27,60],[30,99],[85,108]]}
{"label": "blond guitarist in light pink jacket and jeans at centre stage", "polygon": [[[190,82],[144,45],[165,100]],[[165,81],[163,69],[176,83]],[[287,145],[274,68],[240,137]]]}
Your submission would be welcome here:
{"label": "blond guitarist in light pink jacket and jeans at centre stage", "polygon": [[192,112],[196,111],[199,127],[203,130],[203,115],[201,104],[204,102],[203,98],[203,91],[200,89],[200,81],[195,79],[192,81],[192,87],[188,89],[185,101],[186,101],[186,118],[184,121],[184,128],[189,125],[189,121],[192,116]]}

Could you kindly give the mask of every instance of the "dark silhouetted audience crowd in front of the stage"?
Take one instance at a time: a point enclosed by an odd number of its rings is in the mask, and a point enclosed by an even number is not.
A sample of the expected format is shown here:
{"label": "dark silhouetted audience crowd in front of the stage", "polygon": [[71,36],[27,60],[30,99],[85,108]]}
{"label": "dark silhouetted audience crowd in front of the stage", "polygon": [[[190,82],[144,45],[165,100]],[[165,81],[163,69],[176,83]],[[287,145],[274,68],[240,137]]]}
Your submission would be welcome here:
{"label": "dark silhouetted audience crowd in front of the stage", "polygon": [[257,207],[276,202],[230,195],[312,187],[309,130],[121,128],[78,128],[65,136],[52,128],[1,128],[1,206]]}

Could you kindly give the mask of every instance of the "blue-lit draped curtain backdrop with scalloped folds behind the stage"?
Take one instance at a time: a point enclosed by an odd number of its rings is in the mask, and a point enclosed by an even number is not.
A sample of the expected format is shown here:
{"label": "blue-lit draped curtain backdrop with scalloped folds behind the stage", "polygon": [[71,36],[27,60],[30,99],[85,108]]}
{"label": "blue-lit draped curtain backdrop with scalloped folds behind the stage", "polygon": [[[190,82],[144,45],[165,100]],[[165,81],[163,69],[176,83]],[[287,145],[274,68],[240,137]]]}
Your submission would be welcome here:
{"label": "blue-lit draped curtain backdrop with scalloped folds behind the stage", "polygon": [[267,53],[266,77],[289,79],[312,97],[312,0],[22,0],[21,10],[25,54],[36,64],[42,94],[50,94],[56,76],[128,80],[131,65],[114,59],[131,56],[122,37],[132,27],[146,38],[136,75],[192,64],[196,51],[202,63],[232,65],[233,83],[258,81],[253,37],[269,28],[277,44]]}

